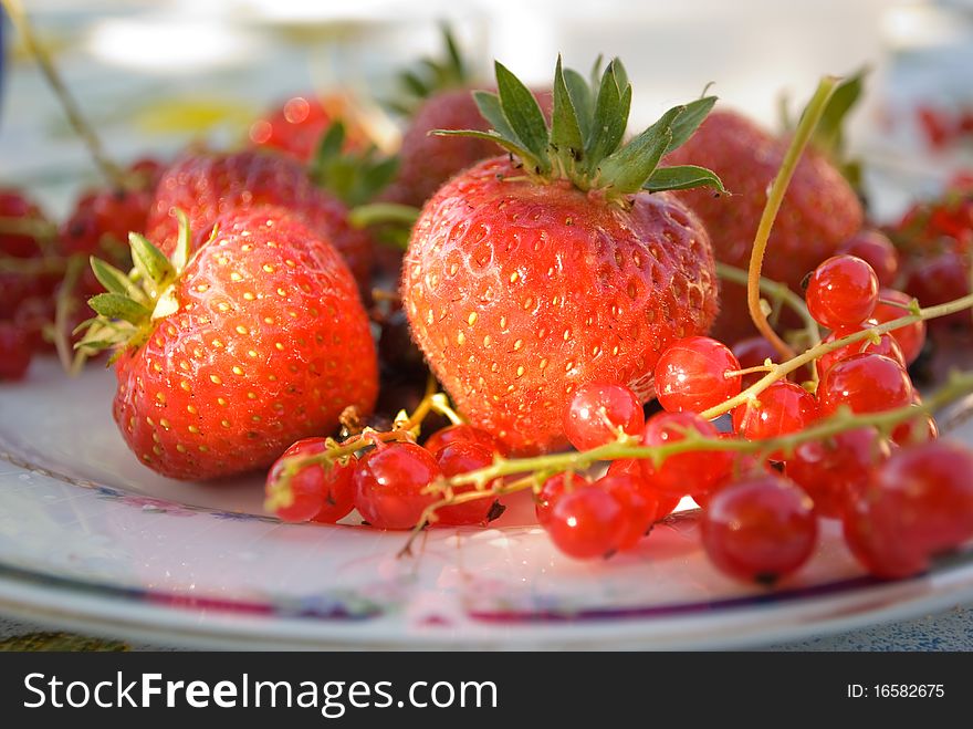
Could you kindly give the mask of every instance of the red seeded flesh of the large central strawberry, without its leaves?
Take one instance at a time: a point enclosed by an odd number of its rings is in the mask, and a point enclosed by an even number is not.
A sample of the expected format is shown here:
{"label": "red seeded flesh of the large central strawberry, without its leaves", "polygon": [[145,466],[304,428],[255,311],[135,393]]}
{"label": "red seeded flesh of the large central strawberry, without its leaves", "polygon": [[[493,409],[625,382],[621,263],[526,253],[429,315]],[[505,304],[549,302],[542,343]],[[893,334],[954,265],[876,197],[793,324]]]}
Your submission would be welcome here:
{"label": "red seeded flesh of the large central strawberry, without its leaves", "polygon": [[494,158],[436,194],[401,293],[460,412],[526,455],[566,445],[563,414],[585,383],[648,399],[659,353],[712,321],[716,279],[705,230],[670,195],[636,195],[626,210],[521,173]]}

